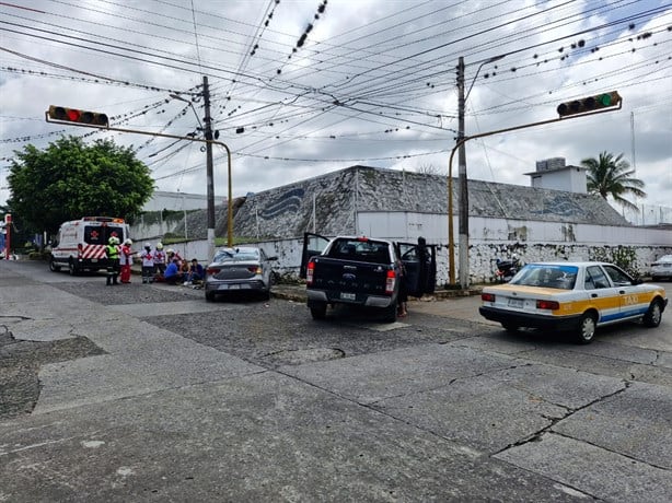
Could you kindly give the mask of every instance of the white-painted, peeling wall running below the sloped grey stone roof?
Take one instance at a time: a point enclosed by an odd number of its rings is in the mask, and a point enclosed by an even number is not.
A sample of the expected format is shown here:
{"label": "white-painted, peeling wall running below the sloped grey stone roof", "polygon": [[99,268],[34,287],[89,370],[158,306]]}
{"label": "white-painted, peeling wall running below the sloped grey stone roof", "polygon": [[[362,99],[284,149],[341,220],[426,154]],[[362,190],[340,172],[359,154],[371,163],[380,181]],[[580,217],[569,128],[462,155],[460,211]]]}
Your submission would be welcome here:
{"label": "white-painted, peeling wall running below the sloped grey stone roof", "polygon": [[[459,222],[454,218],[455,264],[459,264]],[[439,245],[437,283],[448,283],[448,222],[445,215],[414,212],[360,212],[359,234],[394,241],[416,242],[424,236],[429,244]],[[134,227],[134,236],[139,229]],[[142,239],[136,242],[140,249]],[[154,243],[152,243],[153,245]],[[301,264],[302,238],[275,239],[258,243],[269,256],[278,256],[274,270],[296,280]],[[208,264],[207,242],[166,245],[184,258],[198,258]],[[503,219],[470,219],[470,278],[472,282],[491,281],[495,260],[518,254],[524,262],[537,260],[571,260],[612,257],[625,253],[633,268],[645,273],[660,255],[672,254],[672,232],[660,229],[601,226],[559,222],[538,222]],[[455,271],[455,277],[459,271]]]}

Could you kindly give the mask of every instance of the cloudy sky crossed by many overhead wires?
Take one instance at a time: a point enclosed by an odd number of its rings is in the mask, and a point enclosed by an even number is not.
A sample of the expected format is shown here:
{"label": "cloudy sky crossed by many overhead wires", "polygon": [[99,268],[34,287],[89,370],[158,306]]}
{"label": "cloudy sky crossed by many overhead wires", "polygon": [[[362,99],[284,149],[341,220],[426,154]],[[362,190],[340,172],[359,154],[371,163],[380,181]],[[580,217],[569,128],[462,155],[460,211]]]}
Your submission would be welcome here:
{"label": "cloudy sky crossed by many overhead wires", "polygon": [[[202,143],[45,121],[61,105],[201,136],[204,75],[234,196],[356,164],[447,173],[463,57],[467,136],[623,96],[616,112],[468,142],[470,178],[529,186],[538,160],[623,153],[646,183],[636,202],[672,207],[671,1],[9,0],[0,48],[0,204],[13,151],[61,134],[132,145],[159,190],[205,194]],[[215,186],[219,201],[221,147]]]}

